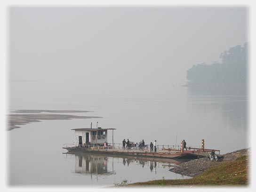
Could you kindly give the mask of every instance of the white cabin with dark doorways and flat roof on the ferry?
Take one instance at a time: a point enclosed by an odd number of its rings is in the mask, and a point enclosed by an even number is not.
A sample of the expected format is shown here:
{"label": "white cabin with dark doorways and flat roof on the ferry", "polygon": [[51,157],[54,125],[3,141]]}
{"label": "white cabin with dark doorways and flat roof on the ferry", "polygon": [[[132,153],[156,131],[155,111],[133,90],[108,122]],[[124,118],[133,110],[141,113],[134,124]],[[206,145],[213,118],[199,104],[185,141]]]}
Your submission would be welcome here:
{"label": "white cabin with dark doorways and flat roof on the ferry", "polygon": [[108,130],[113,131],[114,129],[115,128],[74,128],[72,130],[75,130],[75,146],[108,143]]}

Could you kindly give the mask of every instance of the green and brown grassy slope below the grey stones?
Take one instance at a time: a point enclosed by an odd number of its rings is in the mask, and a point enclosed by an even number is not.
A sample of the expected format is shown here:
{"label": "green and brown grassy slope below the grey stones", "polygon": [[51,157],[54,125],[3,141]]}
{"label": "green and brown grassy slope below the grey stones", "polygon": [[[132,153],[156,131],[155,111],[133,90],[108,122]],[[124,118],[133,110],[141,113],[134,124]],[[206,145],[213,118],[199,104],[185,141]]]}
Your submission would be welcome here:
{"label": "green and brown grassy slope below the grey stones", "polygon": [[[129,184],[129,186],[185,186],[185,185],[244,185],[248,184],[248,156],[241,156],[235,161],[223,162],[206,170],[204,173],[191,179],[154,180]],[[127,185],[126,185],[127,186]]]}

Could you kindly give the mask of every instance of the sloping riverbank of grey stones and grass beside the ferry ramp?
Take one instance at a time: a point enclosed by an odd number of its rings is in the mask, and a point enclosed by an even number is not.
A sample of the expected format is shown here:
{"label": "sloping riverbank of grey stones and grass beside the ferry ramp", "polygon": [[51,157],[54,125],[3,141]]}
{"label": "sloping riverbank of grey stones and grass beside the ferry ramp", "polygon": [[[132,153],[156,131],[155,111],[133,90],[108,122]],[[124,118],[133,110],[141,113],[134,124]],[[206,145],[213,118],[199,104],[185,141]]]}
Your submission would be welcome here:
{"label": "sloping riverbank of grey stones and grass beside the ferry ramp", "polygon": [[224,154],[222,162],[211,162],[207,161],[206,158],[190,160],[181,163],[175,168],[171,168],[170,171],[185,176],[192,176],[193,178],[191,179],[166,180],[163,178],[162,180],[139,182],[124,186],[248,185],[249,155],[250,149],[242,149]]}

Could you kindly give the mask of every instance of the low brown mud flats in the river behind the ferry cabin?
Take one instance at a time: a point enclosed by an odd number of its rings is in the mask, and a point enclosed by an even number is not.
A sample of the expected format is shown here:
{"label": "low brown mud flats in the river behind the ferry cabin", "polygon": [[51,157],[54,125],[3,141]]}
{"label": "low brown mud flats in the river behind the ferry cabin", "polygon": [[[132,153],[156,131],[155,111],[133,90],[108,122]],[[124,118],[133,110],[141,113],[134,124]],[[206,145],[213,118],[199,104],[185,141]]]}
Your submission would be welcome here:
{"label": "low brown mud flats in the river behind the ferry cabin", "polygon": [[[66,114],[41,114],[40,112],[89,112],[89,111],[73,111],[73,110],[19,110],[21,113],[31,112],[37,114],[8,114],[7,130],[20,128],[18,125],[25,125],[32,122],[40,122],[40,120],[72,120],[72,119],[90,119],[102,117],[77,116]],[[19,112],[15,111],[15,112]]]}

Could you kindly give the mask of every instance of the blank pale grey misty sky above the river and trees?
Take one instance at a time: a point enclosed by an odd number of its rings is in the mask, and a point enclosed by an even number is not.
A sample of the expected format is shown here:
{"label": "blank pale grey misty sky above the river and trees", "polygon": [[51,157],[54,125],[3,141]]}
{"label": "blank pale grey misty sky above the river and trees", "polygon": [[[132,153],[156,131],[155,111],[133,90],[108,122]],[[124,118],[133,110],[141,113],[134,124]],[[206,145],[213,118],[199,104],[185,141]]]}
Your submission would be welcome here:
{"label": "blank pale grey misty sky above the river and trees", "polygon": [[146,96],[184,85],[193,64],[248,41],[247,8],[13,7],[8,34],[14,103]]}

